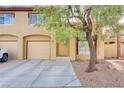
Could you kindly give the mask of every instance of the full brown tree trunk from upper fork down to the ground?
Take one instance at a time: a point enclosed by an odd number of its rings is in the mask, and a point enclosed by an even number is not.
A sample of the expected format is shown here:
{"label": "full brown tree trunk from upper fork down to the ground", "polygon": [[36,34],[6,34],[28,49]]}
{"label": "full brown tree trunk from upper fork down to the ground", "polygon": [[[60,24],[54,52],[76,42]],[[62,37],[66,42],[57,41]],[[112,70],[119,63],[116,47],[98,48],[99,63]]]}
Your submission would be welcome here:
{"label": "full brown tree trunk from upper fork down to the ground", "polygon": [[90,50],[90,62],[88,65],[88,69],[86,70],[87,72],[93,72],[96,69],[95,64],[96,64],[96,49],[95,49],[95,43],[94,43],[94,37],[92,36],[92,19],[91,19],[91,7],[89,7],[86,12],[84,13],[84,19],[83,19],[83,27],[86,31],[86,37],[89,45],[89,50]]}

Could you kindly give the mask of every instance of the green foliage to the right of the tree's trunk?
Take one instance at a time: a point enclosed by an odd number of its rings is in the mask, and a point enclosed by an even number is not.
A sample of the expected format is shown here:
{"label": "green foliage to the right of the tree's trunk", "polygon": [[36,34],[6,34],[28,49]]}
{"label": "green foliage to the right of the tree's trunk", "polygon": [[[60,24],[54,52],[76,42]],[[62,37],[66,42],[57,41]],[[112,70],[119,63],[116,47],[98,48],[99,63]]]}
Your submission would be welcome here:
{"label": "green foliage to the right of the tree's trunk", "polygon": [[[118,5],[103,5],[103,6],[92,6],[92,16],[97,23],[97,29],[103,27],[110,27],[112,33],[117,33],[123,29],[123,25],[119,24],[119,20],[123,16],[124,7]],[[96,33],[99,34],[99,30],[95,29]],[[102,31],[102,30],[101,30]],[[100,38],[107,37],[105,34],[99,35]]]}

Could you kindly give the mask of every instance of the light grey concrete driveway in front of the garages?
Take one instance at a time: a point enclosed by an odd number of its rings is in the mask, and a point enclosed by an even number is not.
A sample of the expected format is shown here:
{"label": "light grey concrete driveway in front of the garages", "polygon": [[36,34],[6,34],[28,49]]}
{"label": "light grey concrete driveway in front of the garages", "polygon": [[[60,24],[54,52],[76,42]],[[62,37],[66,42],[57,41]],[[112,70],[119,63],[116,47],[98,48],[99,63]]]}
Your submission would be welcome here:
{"label": "light grey concrete driveway in front of the garages", "polygon": [[0,87],[81,87],[71,62],[16,60],[0,63]]}

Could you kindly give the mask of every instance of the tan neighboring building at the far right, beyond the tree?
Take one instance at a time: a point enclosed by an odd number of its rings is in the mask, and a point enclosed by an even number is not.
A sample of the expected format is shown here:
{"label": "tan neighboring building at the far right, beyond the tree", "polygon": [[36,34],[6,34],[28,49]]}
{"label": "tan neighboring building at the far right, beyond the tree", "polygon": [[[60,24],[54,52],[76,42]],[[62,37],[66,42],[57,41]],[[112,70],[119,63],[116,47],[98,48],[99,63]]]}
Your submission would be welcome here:
{"label": "tan neighboring building at the far right, beyond the tree", "polygon": [[[124,31],[120,31],[120,48],[121,57],[124,58]],[[117,37],[116,34],[112,35],[109,39],[105,40],[104,45],[105,58],[117,58]]]}

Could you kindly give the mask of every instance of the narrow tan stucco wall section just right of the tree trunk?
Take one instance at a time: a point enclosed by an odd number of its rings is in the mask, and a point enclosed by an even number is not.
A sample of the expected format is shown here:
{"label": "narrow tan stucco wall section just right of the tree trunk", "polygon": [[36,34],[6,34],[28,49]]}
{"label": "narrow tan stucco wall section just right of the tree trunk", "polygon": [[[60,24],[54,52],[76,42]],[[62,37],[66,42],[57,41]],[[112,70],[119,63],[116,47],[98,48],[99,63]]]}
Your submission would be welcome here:
{"label": "narrow tan stucco wall section just right of the tree trunk", "polygon": [[104,41],[97,40],[97,59],[103,60],[104,59]]}

